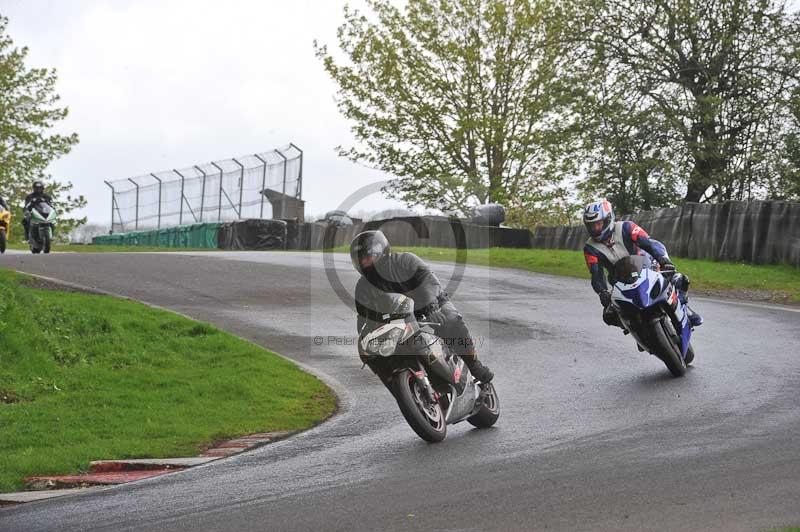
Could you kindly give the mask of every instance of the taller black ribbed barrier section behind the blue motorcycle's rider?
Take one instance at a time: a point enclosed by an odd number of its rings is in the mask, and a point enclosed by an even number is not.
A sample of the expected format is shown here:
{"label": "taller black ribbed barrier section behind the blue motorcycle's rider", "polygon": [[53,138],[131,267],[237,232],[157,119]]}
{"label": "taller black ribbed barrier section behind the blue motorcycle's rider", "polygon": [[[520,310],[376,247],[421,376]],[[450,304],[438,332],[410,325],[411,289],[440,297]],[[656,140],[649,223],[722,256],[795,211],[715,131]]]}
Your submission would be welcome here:
{"label": "taller black ribbed barrier section behind the blue motorcycle's rider", "polygon": [[[800,203],[687,203],[623,218],[641,225],[676,257],[800,267]],[[583,226],[540,227],[532,247],[581,249],[585,241]]]}

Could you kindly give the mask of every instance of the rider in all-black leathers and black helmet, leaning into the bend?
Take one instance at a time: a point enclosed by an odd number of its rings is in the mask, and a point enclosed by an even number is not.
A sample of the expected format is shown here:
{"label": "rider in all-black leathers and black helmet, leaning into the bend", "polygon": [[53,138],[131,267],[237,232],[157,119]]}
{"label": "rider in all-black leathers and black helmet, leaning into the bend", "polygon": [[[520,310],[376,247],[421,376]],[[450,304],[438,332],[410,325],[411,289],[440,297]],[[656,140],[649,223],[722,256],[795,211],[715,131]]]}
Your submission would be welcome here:
{"label": "rider in all-black leathers and black helmet, leaning into the bend", "polygon": [[413,253],[392,253],[382,231],[364,231],[353,238],[350,258],[361,278],[356,284],[355,304],[359,333],[368,321],[382,321],[380,301],[386,294],[399,293],[414,300],[414,315],[437,322],[436,334],[466,362],[470,373],[488,383],[494,373],[484,366],[464,319],[450,301],[441,283],[422,259]]}

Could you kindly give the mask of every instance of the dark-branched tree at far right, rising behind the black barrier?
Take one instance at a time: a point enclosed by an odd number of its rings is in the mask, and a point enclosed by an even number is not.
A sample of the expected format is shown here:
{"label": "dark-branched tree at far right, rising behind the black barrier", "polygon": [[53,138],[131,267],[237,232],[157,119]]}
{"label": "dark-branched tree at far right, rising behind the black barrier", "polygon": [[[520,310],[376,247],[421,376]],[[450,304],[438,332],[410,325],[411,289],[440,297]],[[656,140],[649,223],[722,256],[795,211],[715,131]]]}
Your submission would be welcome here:
{"label": "dark-branched tree at far right, rising behind the black barrier", "polygon": [[[789,123],[787,103],[800,81],[798,15],[773,0],[582,4],[576,40],[592,55],[591,78],[613,87],[619,95],[613,105],[625,105],[616,125],[630,125],[642,113],[655,119],[612,132],[605,152],[629,134],[651,135],[642,168],[658,173],[666,162],[684,169],[686,201],[767,195],[776,175],[770,153]],[[608,110],[600,106],[599,113]],[[667,159],[659,146],[670,143]]]}

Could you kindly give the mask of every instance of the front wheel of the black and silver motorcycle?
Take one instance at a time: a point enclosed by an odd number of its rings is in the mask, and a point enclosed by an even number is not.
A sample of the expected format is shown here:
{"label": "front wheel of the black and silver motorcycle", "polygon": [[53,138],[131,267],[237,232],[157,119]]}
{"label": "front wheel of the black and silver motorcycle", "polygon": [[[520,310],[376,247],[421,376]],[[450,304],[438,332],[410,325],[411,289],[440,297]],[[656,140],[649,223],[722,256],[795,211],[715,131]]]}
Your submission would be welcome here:
{"label": "front wheel of the black and silver motorcycle", "polygon": [[431,443],[437,443],[447,435],[447,422],[439,403],[430,404],[425,398],[414,372],[403,370],[392,377],[394,396],[403,417],[417,433],[417,436]]}

